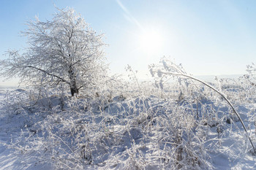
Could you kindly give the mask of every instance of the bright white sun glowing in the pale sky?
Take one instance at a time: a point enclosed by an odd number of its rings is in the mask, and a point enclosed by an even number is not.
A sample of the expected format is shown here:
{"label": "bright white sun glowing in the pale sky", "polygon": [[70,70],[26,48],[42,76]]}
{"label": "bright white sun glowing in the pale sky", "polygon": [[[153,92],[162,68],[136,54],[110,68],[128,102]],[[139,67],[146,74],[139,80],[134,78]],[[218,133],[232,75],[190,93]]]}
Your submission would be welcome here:
{"label": "bright white sun glowing in the pale sky", "polygon": [[143,53],[157,54],[162,50],[163,37],[157,29],[148,29],[141,32],[138,42]]}

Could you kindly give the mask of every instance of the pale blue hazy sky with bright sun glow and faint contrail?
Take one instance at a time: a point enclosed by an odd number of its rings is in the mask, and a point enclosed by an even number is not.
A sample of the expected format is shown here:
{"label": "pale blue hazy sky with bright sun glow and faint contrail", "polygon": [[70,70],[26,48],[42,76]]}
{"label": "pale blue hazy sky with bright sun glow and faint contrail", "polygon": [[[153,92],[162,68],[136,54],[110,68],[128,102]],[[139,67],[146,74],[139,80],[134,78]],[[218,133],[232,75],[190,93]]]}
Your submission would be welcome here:
{"label": "pale blue hazy sky with bright sun glow and faint contrail", "polygon": [[26,46],[20,36],[26,21],[35,15],[51,20],[54,4],[73,7],[105,34],[111,72],[123,73],[129,64],[146,77],[148,64],[166,55],[194,75],[244,74],[256,59],[254,0],[2,0],[1,59],[6,50]]}

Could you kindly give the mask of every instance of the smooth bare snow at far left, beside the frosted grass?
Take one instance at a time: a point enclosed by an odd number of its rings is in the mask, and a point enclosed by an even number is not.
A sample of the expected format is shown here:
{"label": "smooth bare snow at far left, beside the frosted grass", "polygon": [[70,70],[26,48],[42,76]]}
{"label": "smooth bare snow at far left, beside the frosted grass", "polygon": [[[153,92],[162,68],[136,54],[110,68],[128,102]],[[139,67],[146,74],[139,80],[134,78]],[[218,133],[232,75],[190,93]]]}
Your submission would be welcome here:
{"label": "smooth bare snow at far left, beside the frosted grass", "polygon": [[[0,88],[0,169],[49,169],[48,163],[40,164],[34,155],[24,158],[22,152],[15,152],[14,147],[10,148],[13,140],[20,137],[20,131],[24,128],[22,115],[7,114],[7,100],[12,100],[12,93],[20,93],[15,88]],[[10,95],[10,96],[9,96]],[[8,147],[9,146],[9,147]]]}

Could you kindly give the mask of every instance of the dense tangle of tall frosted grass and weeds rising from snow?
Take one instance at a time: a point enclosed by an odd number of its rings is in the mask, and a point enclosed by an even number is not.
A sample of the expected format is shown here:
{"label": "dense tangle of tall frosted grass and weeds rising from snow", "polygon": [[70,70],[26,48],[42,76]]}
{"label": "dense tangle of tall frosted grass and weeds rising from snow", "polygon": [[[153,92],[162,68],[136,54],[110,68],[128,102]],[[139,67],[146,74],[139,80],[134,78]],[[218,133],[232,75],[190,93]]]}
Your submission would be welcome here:
{"label": "dense tangle of tall frosted grass and weeds rising from snow", "polygon": [[232,132],[239,127],[225,106],[230,99],[182,69],[187,78],[170,82],[173,68],[152,67],[154,83],[138,81],[129,67],[130,84],[113,77],[79,96],[49,88],[24,92],[22,102],[10,95],[22,133],[7,145],[53,169],[214,169],[212,155],[242,152],[230,149],[244,142]]}

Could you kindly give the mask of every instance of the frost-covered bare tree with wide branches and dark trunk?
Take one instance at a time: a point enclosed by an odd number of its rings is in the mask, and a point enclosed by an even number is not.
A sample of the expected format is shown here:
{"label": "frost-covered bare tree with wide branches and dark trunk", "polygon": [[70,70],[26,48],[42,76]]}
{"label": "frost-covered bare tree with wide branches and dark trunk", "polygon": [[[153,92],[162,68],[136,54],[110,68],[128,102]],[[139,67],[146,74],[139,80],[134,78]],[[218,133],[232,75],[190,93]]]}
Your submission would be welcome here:
{"label": "frost-covered bare tree with wide branches and dark trunk", "polygon": [[30,84],[64,83],[73,96],[104,75],[103,34],[96,34],[73,9],[58,9],[53,20],[36,18],[27,25],[22,34],[28,37],[28,47],[22,54],[8,51],[9,58],[0,61],[2,76]]}

